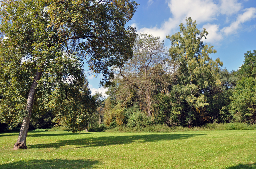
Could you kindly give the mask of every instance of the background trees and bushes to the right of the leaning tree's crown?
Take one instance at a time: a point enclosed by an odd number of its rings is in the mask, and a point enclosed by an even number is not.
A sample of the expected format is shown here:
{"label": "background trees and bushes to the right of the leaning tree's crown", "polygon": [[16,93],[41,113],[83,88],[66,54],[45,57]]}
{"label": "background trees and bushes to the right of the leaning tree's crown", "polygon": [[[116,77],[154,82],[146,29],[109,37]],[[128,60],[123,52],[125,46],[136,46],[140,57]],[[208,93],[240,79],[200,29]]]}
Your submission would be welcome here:
{"label": "background trees and bushes to the right of the leaning tree's crown", "polygon": [[[212,44],[187,18],[180,32],[167,36],[167,51],[159,37],[137,36],[133,58],[114,67],[113,85],[101,102],[100,121],[116,126],[195,127],[207,123],[256,122],[256,51],[247,51],[238,71],[212,60]],[[103,121],[103,123],[102,123]]]}

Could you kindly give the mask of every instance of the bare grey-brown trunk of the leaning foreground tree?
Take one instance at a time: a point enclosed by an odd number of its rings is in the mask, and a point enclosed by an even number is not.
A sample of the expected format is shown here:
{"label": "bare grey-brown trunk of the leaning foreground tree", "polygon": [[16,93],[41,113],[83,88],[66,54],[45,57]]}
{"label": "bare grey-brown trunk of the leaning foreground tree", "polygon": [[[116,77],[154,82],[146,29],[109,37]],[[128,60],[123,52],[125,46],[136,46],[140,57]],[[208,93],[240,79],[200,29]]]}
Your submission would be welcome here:
{"label": "bare grey-brown trunk of the leaning foreground tree", "polygon": [[27,100],[27,106],[26,106],[26,110],[28,111],[28,116],[23,118],[21,128],[20,128],[20,134],[19,134],[17,142],[14,144],[13,150],[27,149],[26,138],[28,135],[28,127],[29,127],[30,117],[32,114],[34,97],[35,97],[35,93],[36,93],[35,88],[38,84],[37,81],[40,79],[41,75],[42,75],[42,72],[39,72],[39,71],[36,72],[36,76],[35,76],[35,78],[32,82],[32,85],[30,87],[29,94],[28,94],[28,100]]}

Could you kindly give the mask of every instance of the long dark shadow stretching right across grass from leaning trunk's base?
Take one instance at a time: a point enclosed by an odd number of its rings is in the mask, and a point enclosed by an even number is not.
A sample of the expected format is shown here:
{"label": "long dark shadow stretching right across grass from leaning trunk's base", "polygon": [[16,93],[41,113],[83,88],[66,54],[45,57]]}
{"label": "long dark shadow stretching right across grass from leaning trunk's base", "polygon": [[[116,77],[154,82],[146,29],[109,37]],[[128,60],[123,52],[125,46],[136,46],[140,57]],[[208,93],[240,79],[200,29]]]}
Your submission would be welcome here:
{"label": "long dark shadow stretching right across grass from leaning trunk's base", "polygon": [[130,136],[104,136],[104,137],[89,137],[70,140],[59,140],[55,143],[29,145],[28,148],[59,148],[66,145],[77,145],[79,147],[91,146],[107,146],[116,144],[129,143],[146,143],[156,142],[161,140],[176,140],[187,139],[204,134],[145,134],[145,135],[130,135]]}

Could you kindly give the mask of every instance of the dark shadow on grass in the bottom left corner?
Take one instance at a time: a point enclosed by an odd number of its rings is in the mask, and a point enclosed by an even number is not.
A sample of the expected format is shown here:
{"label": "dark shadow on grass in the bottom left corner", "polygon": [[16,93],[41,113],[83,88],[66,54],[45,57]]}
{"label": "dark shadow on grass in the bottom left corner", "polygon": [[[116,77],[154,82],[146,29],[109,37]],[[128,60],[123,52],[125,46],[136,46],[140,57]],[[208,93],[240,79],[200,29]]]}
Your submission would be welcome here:
{"label": "dark shadow on grass in the bottom left corner", "polygon": [[49,168],[96,168],[94,165],[101,164],[97,160],[79,159],[79,160],[66,160],[66,159],[52,159],[52,160],[30,160],[30,161],[18,161],[8,164],[0,164],[1,169],[49,169]]}

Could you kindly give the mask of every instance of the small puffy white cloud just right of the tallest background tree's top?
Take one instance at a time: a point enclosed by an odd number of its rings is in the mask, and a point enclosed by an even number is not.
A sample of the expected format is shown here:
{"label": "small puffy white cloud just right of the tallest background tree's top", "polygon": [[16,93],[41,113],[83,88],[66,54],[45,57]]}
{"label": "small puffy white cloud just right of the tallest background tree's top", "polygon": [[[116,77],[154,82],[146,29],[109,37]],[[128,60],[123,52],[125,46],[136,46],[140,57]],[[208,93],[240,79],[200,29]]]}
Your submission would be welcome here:
{"label": "small puffy white cloud just right of the tallest background tree's top", "polygon": [[210,24],[207,23],[203,25],[203,28],[206,28],[209,35],[207,36],[207,39],[203,39],[206,43],[218,43],[220,40],[223,39],[223,36],[219,30],[219,25],[217,24]]}

